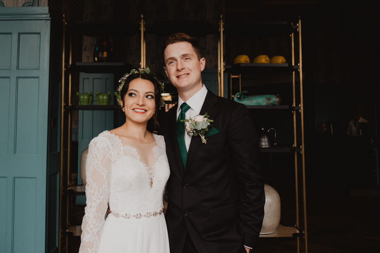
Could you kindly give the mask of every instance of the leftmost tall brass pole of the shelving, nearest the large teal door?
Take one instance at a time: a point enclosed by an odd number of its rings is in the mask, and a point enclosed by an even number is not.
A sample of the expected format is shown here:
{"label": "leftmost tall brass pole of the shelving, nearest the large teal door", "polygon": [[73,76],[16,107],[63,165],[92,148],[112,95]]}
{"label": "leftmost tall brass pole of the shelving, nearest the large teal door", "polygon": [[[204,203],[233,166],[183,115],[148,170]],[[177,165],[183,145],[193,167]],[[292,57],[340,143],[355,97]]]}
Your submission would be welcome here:
{"label": "leftmost tall brass pole of the shelving, nearest the large teal door", "polygon": [[63,33],[62,33],[62,83],[61,83],[61,132],[60,132],[60,155],[61,155],[61,166],[59,175],[59,207],[58,207],[58,252],[61,252],[62,243],[62,195],[63,195],[63,112],[65,111],[64,98],[65,98],[65,15],[63,15]]}

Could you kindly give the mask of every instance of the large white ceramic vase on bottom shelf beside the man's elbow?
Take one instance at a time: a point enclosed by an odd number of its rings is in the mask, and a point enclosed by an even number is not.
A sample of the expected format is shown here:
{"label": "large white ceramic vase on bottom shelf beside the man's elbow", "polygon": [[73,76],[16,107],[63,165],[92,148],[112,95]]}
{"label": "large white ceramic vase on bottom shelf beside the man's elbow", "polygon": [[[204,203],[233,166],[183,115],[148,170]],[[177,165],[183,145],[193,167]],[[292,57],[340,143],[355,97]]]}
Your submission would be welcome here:
{"label": "large white ceramic vase on bottom shelf beside the man's elbow", "polygon": [[270,185],[264,184],[264,220],[260,234],[272,234],[280,224],[281,202],[279,193]]}

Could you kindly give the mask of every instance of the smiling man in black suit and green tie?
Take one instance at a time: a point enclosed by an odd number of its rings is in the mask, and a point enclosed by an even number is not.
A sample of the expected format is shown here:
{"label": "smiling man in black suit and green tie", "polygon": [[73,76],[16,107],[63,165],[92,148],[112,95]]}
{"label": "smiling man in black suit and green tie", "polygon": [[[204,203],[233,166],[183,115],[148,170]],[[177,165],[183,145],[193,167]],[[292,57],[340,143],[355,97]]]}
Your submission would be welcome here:
{"label": "smiling man in black suit and green tie", "polygon": [[[178,104],[162,123],[170,165],[167,183],[170,252],[245,253],[264,217],[263,171],[247,107],[215,96],[202,84],[198,43],[184,33],[163,43],[165,72]],[[210,115],[207,143],[185,133],[180,119]]]}

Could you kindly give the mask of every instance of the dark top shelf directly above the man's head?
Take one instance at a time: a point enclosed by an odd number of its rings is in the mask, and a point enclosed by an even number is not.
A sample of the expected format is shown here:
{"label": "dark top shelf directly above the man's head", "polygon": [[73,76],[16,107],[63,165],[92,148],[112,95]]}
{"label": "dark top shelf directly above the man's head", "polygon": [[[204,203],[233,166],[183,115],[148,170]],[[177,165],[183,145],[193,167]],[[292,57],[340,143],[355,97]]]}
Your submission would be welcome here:
{"label": "dark top shelf directly above the man's head", "polygon": [[146,25],[145,32],[158,36],[168,36],[172,33],[186,33],[193,37],[202,37],[208,34],[217,34],[219,25],[213,25],[206,21],[163,21]]}

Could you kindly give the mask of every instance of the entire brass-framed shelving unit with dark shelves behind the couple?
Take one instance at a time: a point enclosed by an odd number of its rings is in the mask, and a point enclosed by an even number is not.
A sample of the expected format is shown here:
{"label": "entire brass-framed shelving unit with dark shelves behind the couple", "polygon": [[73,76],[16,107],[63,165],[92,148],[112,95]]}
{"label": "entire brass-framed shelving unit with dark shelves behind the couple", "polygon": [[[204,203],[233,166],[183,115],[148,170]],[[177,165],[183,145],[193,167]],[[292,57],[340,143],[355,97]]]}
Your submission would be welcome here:
{"label": "entire brass-framed shelving unit with dark shelves behind the couple", "polygon": [[[104,23],[104,22],[103,22]],[[105,28],[109,24],[101,24]],[[91,27],[91,24],[88,24],[88,22],[82,22],[79,24],[81,27],[79,27],[79,31],[75,30],[74,32],[82,32],[83,30],[88,30],[88,27]],[[219,27],[218,31],[220,33],[220,37],[218,39],[218,94],[219,96],[222,96],[224,94],[223,90],[223,74],[225,71],[228,71],[230,73],[234,72],[234,75],[231,75],[231,78],[239,78],[239,85],[240,85],[240,77],[243,73],[251,73],[254,71],[261,71],[261,72],[277,72],[277,71],[291,71],[292,77],[293,77],[293,104],[292,105],[285,105],[285,106],[248,106],[250,109],[282,109],[282,110],[291,110],[293,113],[293,123],[294,123],[294,144],[291,147],[276,147],[272,149],[261,149],[261,152],[293,152],[294,153],[294,161],[295,161],[295,168],[294,168],[294,174],[295,174],[295,190],[296,190],[296,224],[291,227],[286,227],[279,225],[277,228],[277,231],[273,234],[269,235],[260,235],[260,238],[262,239],[275,239],[275,238],[288,238],[288,239],[296,239],[297,240],[297,252],[300,251],[299,248],[299,237],[304,237],[305,240],[305,252],[307,253],[307,220],[306,220],[306,182],[305,182],[305,152],[304,152],[304,114],[303,114],[303,95],[302,95],[302,46],[301,46],[301,19],[298,20],[297,25],[290,24],[287,29],[291,31],[291,50],[292,50],[292,63],[290,64],[267,64],[265,66],[263,65],[255,65],[255,64],[236,64],[236,65],[225,65],[223,61],[223,31],[225,28],[223,27],[223,16],[220,15],[220,21],[219,21]],[[282,31],[282,27],[284,26],[283,22],[258,22],[256,24],[258,29],[262,25],[272,25],[274,27],[273,33],[276,33],[278,31]],[[205,34],[213,33],[213,31],[216,30],[216,26],[210,25],[210,24],[204,24],[205,28],[204,31],[202,31]],[[71,26],[72,27],[72,26]],[[151,33],[160,33],[160,31],[153,31],[156,26],[147,27],[148,32]],[[63,185],[63,176],[67,176],[67,182],[70,181],[70,136],[71,136],[71,113],[68,113],[68,130],[67,133],[65,133],[64,130],[64,113],[65,110],[96,110],[94,106],[81,106],[81,105],[72,105],[71,104],[71,71],[84,71],[84,72],[97,72],[94,68],[99,69],[107,69],[107,68],[118,68],[118,67],[125,67],[127,66],[127,63],[108,63],[108,64],[91,64],[91,63],[74,63],[72,64],[72,54],[71,54],[71,36],[70,36],[70,57],[69,57],[69,64],[66,64],[65,60],[65,31],[67,28],[67,24],[65,22],[65,16],[63,16],[63,49],[62,49],[62,97],[61,97],[61,130],[60,130],[60,155],[61,155],[61,166],[60,166],[60,196],[59,196],[59,252],[62,250],[62,236],[65,234],[66,236],[66,252],[68,250],[68,238],[67,236],[71,234],[72,236],[80,236],[81,235],[81,227],[80,226],[70,226],[68,222],[68,215],[69,215],[69,198],[67,198],[67,215],[66,215],[66,228],[62,228],[62,201],[63,201],[63,193],[71,194],[71,195],[84,195],[84,189],[82,186],[70,186],[70,185]],[[104,29],[105,29],[104,28]],[[156,27],[157,28],[157,27]],[[185,26],[186,28],[186,26]],[[193,29],[193,25],[189,24],[188,29]],[[74,28],[73,28],[74,29]],[[141,15],[141,22],[140,22],[140,32],[141,32],[141,63],[140,67],[143,68],[146,66],[146,42],[145,42],[145,30],[146,25],[144,21],[144,17]],[[174,28],[173,28],[174,29]],[[298,31],[299,36],[299,64],[294,65],[294,30]],[[263,29],[264,33],[268,32],[268,30]],[[92,30],[88,30],[88,32],[92,36]],[[162,32],[162,31],[161,31]],[[194,31],[197,32],[197,31]],[[117,33],[117,31],[114,31],[114,33]],[[136,68],[138,66],[131,65],[132,68]],[[68,105],[65,105],[64,99],[65,99],[65,71],[69,71],[69,77],[68,77]],[[112,72],[112,70],[109,70]],[[296,85],[295,85],[295,72],[299,71],[299,89],[300,89],[300,101],[301,104],[296,105]],[[237,74],[239,73],[239,74]],[[94,108],[92,108],[94,107]],[[110,105],[107,108],[101,108],[101,110],[115,110],[116,107]],[[296,114],[300,113],[301,115],[301,146],[297,147],[297,126],[296,126]],[[68,150],[67,150],[67,157],[64,156],[64,150],[63,150],[63,141],[64,141],[64,135],[67,134],[68,136]],[[298,196],[298,168],[297,168],[297,152],[300,152],[302,154],[302,195],[303,195],[303,217],[304,217],[304,231],[299,231],[299,196]],[[68,173],[67,175],[63,175],[63,166],[64,162],[67,160],[67,166],[68,166]]]}

